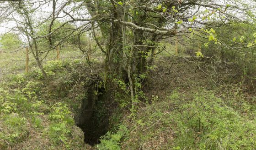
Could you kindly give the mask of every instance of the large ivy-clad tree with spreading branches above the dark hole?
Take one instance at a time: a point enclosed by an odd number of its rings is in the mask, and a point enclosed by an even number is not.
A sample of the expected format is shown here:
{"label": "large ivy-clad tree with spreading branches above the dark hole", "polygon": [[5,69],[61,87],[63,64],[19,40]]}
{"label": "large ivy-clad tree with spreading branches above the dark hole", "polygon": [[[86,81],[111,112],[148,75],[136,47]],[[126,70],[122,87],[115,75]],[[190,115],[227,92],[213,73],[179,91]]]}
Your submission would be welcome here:
{"label": "large ivy-clad tree with spreading branches above the dark hole", "polygon": [[[85,0],[83,5],[92,17],[91,22],[108,39],[104,48],[108,74],[128,81],[132,97],[134,75],[147,71],[161,40],[176,36],[177,32],[190,32],[209,39],[208,43],[218,44],[211,27],[223,26],[230,20],[245,21],[234,16],[245,11],[238,7],[239,1],[233,0],[226,4],[218,0]],[[89,21],[64,13],[73,22]]]}

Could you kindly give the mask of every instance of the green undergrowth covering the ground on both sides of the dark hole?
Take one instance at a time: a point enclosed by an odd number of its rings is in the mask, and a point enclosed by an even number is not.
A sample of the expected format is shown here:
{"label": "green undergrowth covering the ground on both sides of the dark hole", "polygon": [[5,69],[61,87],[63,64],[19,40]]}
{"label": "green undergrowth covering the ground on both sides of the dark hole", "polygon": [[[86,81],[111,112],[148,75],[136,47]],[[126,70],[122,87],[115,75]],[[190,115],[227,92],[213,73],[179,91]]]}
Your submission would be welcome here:
{"label": "green undergrowth covering the ground on both sides of the dark hole", "polygon": [[[0,82],[0,149],[20,149],[22,145],[30,149],[85,148],[74,115],[86,96],[86,75],[74,71],[80,69],[74,62],[49,61],[44,67],[48,82],[37,70],[10,75]],[[113,80],[119,89],[113,94],[118,108],[109,120],[112,131],[101,137],[95,149],[255,149],[256,97],[248,100],[239,85],[146,96],[141,83],[145,78],[134,76],[133,101],[129,84]],[[98,120],[107,114],[104,106],[99,102]]]}

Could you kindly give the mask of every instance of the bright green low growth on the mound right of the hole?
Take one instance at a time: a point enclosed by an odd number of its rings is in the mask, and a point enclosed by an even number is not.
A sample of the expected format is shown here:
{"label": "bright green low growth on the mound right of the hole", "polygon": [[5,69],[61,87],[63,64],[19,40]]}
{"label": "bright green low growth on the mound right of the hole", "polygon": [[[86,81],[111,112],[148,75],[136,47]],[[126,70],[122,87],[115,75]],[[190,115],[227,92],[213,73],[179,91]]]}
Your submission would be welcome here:
{"label": "bright green low growth on the mound right of the hole", "polygon": [[137,122],[127,122],[133,132],[123,145],[126,149],[253,150],[256,120],[213,91],[200,91],[189,96],[175,90],[164,101],[143,108]]}

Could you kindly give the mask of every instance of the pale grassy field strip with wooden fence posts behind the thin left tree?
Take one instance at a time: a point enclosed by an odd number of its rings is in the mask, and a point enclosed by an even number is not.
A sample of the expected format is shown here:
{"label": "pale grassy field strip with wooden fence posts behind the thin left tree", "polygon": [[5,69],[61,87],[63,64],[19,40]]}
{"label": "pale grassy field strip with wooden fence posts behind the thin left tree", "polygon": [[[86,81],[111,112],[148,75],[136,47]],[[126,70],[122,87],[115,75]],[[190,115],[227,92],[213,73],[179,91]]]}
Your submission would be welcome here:
{"label": "pale grassy field strip with wooden fence posts behind the thin left tree", "polygon": [[[82,57],[82,52],[74,47],[66,47],[65,50],[57,47],[56,50],[53,50],[44,60],[42,60],[42,63],[49,60],[75,60]],[[6,75],[29,72],[36,68],[36,60],[29,48],[20,49],[12,53],[0,49],[0,80],[3,80],[3,77]]]}

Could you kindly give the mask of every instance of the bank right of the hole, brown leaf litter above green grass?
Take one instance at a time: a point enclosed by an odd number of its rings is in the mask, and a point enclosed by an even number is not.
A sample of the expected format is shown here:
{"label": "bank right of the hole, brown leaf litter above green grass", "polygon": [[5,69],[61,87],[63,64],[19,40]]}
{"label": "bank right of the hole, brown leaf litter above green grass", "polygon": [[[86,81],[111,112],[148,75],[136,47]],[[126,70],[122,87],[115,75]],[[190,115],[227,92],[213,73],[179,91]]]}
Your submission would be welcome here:
{"label": "bank right of the hole, brown leaf litter above green grass", "polygon": [[255,149],[253,95],[245,96],[239,85],[223,92],[224,87],[214,86],[193,65],[173,65],[168,73],[166,62],[156,62],[150,86],[144,88],[149,104],[138,108],[135,119],[124,118],[130,132],[123,138],[122,149]]}

